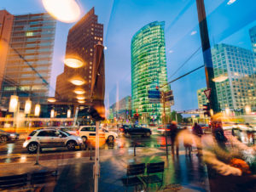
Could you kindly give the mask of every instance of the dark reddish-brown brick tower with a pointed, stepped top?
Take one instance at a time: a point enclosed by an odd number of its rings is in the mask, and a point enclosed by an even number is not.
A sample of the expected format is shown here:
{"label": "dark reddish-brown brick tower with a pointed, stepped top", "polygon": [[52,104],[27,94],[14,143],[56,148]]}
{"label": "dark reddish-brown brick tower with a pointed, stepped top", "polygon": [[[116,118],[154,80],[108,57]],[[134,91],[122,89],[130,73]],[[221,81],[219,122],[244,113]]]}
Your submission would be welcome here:
{"label": "dark reddish-brown brick tower with a pointed, stepped top", "polygon": [[[85,99],[89,99],[91,88],[91,77],[93,69],[94,46],[103,43],[103,25],[98,23],[98,16],[95,9],[84,15],[69,30],[67,36],[66,59],[79,59],[83,66],[71,68],[64,66],[64,72],[57,76],[55,97],[61,100],[73,100],[77,93],[82,94]],[[84,81],[84,84],[73,85],[72,80]]]}

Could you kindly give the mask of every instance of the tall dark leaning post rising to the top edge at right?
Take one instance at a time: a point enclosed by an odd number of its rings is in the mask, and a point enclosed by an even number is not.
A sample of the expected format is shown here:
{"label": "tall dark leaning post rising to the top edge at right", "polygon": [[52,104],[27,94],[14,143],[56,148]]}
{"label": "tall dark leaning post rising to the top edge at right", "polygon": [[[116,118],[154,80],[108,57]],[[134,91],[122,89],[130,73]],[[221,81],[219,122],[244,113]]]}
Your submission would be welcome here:
{"label": "tall dark leaning post rising to the top edge at right", "polygon": [[205,71],[206,71],[206,79],[207,79],[207,88],[211,88],[210,95],[210,106],[214,113],[219,111],[218,108],[218,98],[216,92],[215,82],[212,81],[214,78],[213,65],[212,65],[212,53],[211,53],[211,45],[209,41],[208,35],[208,27],[207,27],[207,15],[204,0],[196,0],[197,6],[197,14],[198,21],[200,27],[200,35],[201,35],[201,48],[204,57],[205,63]]}

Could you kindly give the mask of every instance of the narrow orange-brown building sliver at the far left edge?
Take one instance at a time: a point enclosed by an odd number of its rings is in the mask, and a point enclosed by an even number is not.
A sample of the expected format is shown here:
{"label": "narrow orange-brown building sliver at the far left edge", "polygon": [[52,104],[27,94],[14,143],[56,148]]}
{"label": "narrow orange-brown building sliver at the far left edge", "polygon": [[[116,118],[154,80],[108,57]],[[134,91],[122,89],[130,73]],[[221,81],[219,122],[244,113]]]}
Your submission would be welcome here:
{"label": "narrow orange-brown building sliver at the far left edge", "polygon": [[8,54],[13,21],[13,14],[9,14],[6,10],[0,10],[0,90],[3,83],[5,62]]}

